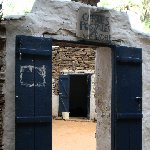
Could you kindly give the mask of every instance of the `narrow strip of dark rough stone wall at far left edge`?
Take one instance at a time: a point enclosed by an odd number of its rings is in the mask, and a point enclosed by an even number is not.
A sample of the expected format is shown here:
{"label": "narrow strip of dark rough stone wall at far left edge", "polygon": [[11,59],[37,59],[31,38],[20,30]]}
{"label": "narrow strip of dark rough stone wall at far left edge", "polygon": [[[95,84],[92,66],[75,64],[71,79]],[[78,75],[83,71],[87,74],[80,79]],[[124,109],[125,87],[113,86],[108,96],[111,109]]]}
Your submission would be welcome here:
{"label": "narrow strip of dark rough stone wall at far left edge", "polygon": [[6,31],[0,24],[0,150],[3,149],[3,112],[5,106],[4,87],[5,87],[5,45]]}

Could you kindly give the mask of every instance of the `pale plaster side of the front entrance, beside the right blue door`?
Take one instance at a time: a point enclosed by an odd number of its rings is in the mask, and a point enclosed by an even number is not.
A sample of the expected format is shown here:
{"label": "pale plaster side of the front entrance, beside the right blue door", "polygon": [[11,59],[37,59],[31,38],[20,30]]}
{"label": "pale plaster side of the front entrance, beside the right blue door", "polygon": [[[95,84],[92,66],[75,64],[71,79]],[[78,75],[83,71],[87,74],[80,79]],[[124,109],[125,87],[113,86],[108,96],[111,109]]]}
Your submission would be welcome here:
{"label": "pale plaster side of the front entrance, beside the right blue door", "polygon": [[111,150],[111,49],[96,51],[97,150]]}

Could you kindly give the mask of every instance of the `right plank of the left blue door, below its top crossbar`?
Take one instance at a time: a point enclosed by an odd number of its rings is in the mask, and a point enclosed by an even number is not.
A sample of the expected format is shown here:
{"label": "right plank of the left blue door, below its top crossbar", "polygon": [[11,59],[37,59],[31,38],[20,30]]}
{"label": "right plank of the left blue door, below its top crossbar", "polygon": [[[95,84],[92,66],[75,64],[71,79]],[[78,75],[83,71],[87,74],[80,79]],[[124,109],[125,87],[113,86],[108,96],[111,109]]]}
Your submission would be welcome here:
{"label": "right plank of the left blue door, below its top crossbar", "polygon": [[36,124],[35,149],[51,150],[51,92],[52,92],[51,56],[35,57],[35,116],[49,117],[49,121]]}

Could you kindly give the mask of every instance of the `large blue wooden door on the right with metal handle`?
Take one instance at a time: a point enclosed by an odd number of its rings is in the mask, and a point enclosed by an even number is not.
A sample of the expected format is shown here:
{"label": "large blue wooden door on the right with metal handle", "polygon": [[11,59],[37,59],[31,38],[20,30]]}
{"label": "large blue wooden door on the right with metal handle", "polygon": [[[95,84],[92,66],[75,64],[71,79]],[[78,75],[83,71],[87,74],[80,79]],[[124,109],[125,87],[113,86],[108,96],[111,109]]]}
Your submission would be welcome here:
{"label": "large blue wooden door on the right with metal handle", "polygon": [[112,50],[112,150],[142,150],[142,49]]}

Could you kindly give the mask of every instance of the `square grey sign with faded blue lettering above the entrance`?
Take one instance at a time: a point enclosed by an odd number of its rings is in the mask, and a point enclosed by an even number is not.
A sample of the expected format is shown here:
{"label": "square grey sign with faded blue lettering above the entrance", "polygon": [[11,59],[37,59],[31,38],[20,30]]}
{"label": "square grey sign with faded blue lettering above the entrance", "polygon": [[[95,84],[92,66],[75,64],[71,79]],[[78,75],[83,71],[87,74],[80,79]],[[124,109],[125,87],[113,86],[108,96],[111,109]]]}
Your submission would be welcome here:
{"label": "square grey sign with faded blue lettering above the entrance", "polygon": [[110,43],[110,14],[107,10],[81,7],[78,11],[78,37]]}

